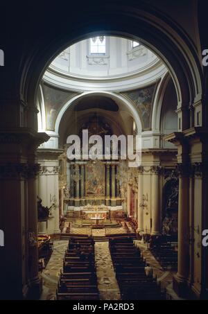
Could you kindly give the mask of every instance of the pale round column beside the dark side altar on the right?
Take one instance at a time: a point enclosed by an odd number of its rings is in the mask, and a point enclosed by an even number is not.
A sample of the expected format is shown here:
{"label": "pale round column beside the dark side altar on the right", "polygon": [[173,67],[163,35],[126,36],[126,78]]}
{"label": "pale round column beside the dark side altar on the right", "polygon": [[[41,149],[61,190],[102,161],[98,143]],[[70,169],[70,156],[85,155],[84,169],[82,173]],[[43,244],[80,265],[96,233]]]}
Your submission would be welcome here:
{"label": "pale round column beside the dark side altar on the right", "polygon": [[160,211],[159,211],[159,167],[152,166],[152,186],[151,186],[151,212],[152,212],[152,229],[151,234],[160,233]]}

